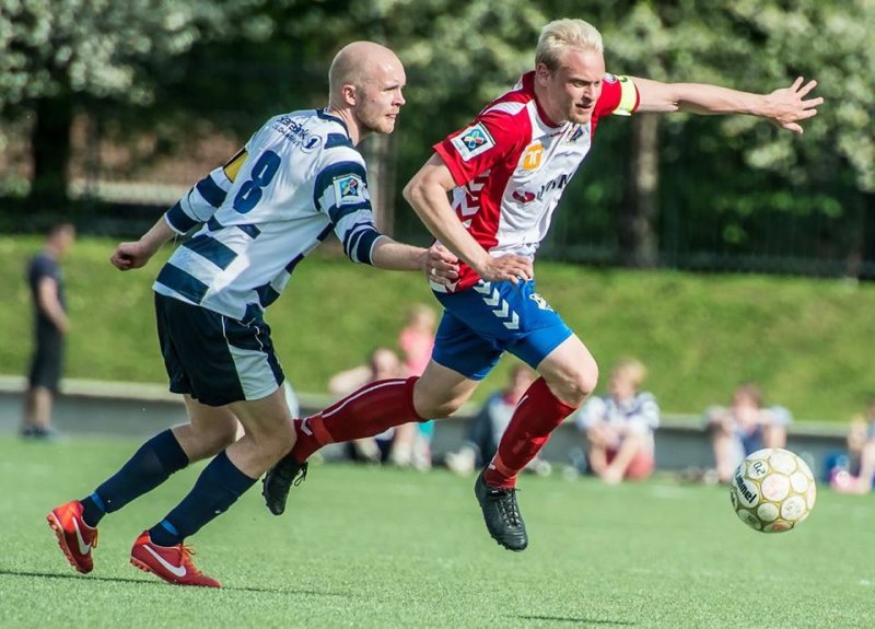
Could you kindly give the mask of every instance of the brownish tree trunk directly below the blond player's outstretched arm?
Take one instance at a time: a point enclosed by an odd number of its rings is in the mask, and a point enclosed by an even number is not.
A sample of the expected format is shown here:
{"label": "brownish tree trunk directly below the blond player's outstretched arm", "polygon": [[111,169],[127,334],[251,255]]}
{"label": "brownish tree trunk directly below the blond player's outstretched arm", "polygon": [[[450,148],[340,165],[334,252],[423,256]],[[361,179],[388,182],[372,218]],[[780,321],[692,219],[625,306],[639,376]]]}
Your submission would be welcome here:
{"label": "brownish tree trunk directly below the blond player's outstretched arm", "polygon": [[655,267],[660,261],[655,225],[660,189],[658,139],[656,114],[639,114],[632,119],[632,159],[619,225],[620,256],[627,266]]}

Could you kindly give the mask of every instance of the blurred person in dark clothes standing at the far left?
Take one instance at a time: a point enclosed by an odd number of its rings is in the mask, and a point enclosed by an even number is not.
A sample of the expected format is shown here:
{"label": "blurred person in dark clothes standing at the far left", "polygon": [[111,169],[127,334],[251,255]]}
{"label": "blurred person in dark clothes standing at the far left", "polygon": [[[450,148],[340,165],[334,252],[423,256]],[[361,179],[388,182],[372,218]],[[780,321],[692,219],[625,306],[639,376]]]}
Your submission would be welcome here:
{"label": "blurred person in dark clothes standing at the far left", "polygon": [[70,329],[60,263],[75,241],[71,223],[54,225],[43,249],[27,265],[34,311],[34,352],[24,397],[21,434],[32,439],[55,436],[51,406],[63,366],[65,336]]}

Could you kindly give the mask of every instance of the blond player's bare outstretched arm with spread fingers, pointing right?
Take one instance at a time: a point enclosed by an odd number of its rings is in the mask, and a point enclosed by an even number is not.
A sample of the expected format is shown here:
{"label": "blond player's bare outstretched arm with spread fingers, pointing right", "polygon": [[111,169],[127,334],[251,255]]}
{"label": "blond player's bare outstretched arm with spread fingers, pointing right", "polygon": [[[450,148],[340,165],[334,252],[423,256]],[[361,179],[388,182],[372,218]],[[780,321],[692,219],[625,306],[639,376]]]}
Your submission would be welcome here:
{"label": "blond player's bare outstretched arm with spread fingers, pointing right", "polygon": [[662,83],[632,78],[639,93],[639,112],[690,112],[692,114],[748,114],[766,118],[774,126],[802,133],[800,123],[817,115],[824,98],[807,98],[817,81],[803,84],[797,78],[790,88],[770,94],[739,92],[704,83]]}

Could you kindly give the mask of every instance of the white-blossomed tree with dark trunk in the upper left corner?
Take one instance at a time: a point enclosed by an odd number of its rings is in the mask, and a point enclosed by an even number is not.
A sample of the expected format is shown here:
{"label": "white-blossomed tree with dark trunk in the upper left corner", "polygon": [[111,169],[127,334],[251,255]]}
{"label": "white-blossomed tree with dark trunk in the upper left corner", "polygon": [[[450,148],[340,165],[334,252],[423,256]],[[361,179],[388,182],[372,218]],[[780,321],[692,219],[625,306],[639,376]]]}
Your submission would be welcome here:
{"label": "white-blossomed tree with dark trunk in the upper left corner", "polygon": [[[35,116],[32,199],[66,200],[70,126],[90,100],[149,103],[198,39],[241,27],[259,0],[0,0],[0,117]],[[249,24],[252,27],[252,25]]]}

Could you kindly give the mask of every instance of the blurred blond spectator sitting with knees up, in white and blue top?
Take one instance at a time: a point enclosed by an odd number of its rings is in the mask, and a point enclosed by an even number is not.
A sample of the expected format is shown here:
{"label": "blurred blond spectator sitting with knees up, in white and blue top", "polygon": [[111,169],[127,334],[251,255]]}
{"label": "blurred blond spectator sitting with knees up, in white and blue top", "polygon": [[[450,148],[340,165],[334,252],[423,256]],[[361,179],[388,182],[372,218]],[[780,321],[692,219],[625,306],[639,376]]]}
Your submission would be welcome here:
{"label": "blurred blond spectator sitting with knees up, in white and blue top", "polygon": [[586,433],[588,468],[609,485],[653,474],[660,407],[652,394],[639,391],[646,374],[640,361],[620,361],[608,382],[609,395],[591,397],[574,415]]}

